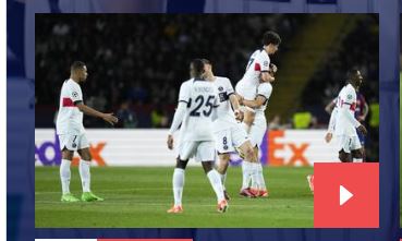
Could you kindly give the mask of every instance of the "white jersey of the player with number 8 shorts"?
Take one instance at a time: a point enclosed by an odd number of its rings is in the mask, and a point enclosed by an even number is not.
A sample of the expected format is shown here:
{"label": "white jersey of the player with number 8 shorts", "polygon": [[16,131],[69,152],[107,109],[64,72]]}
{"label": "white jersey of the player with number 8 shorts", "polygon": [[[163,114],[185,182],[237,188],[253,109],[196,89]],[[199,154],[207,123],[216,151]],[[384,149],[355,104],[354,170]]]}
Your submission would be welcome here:
{"label": "white jersey of the player with number 8 shorts", "polygon": [[233,126],[233,124],[239,124],[235,120],[234,112],[229,99],[229,96],[234,94],[234,89],[229,79],[216,76],[212,82],[216,86],[218,93],[217,107],[217,119],[214,121],[214,132],[227,130]]}

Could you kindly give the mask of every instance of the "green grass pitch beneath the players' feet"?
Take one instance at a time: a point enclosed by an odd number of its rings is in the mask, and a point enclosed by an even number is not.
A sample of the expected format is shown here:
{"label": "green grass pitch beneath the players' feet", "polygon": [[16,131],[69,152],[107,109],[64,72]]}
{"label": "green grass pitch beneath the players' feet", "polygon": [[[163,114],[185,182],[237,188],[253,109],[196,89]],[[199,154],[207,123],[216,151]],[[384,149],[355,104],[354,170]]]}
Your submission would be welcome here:
{"label": "green grass pitch beneath the players' feet", "polygon": [[[107,167],[92,169],[92,190],[99,203],[61,203],[59,169],[35,169],[36,227],[313,227],[313,195],[306,176],[313,168],[265,168],[268,198],[237,195],[241,168],[230,168],[229,210],[216,212],[216,196],[202,168],[186,170],[184,213],[167,214],[173,202],[173,168]],[[77,168],[72,168],[71,192],[81,196]]]}

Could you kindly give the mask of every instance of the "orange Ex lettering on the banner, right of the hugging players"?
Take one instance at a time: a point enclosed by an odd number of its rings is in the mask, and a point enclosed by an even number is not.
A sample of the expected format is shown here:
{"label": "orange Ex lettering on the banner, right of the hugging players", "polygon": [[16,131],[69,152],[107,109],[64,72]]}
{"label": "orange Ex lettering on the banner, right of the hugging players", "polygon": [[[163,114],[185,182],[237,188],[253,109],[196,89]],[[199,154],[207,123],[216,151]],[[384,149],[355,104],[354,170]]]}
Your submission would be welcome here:
{"label": "orange Ex lettering on the banner, right of the hugging players", "polygon": [[268,132],[267,158],[269,164],[272,166],[310,166],[305,156],[310,144],[285,138],[284,134],[284,131]]}

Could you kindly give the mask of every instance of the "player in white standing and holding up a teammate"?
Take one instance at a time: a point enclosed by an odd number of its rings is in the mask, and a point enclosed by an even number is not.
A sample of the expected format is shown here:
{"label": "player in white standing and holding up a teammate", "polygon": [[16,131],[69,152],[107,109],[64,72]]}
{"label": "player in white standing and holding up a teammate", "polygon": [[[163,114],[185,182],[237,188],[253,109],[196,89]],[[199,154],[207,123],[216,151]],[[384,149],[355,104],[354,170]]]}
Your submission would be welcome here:
{"label": "player in white standing and holding up a teammate", "polygon": [[256,170],[256,174],[249,177],[249,179],[246,180],[246,184],[249,186],[249,181],[252,181],[252,194],[263,197],[268,196],[268,191],[264,180],[263,166],[258,161],[258,147],[261,145],[264,134],[267,131],[265,110],[267,108],[268,99],[272,93],[272,85],[270,83],[275,81],[273,76],[276,71],[276,67],[273,64],[270,64],[270,69],[267,73],[272,77],[269,81],[259,81],[259,85],[256,89],[255,99],[248,100],[245,99],[243,96],[237,95],[241,105],[255,110],[254,121],[252,122],[252,126],[249,130],[249,137],[254,147],[255,159],[257,160],[257,162],[253,162],[252,165],[252,168]]}

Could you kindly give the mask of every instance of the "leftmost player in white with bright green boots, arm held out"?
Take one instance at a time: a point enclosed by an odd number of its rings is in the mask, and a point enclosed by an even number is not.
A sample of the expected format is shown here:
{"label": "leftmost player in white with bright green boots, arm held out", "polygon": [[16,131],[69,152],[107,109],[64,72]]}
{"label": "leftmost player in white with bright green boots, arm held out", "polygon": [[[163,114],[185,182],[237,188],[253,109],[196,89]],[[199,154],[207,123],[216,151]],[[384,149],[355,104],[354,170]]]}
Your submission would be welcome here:
{"label": "leftmost player in white with bright green boots, arm held out", "polygon": [[83,118],[85,113],[101,118],[110,124],[117,123],[118,118],[113,117],[112,113],[102,113],[84,105],[80,84],[84,83],[87,76],[88,73],[85,63],[75,61],[71,65],[70,79],[64,81],[61,88],[60,107],[56,126],[60,141],[60,149],[62,152],[60,179],[63,194],[61,196],[61,202],[80,201],[70,193],[70,166],[75,150],[81,156],[80,176],[83,188],[81,200],[84,202],[103,201],[103,198],[95,195],[90,191],[89,167],[92,156],[89,153],[89,143],[86,138],[83,125]]}

